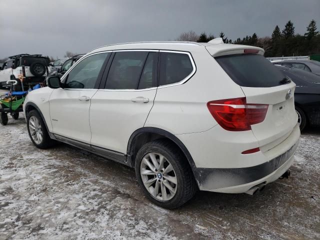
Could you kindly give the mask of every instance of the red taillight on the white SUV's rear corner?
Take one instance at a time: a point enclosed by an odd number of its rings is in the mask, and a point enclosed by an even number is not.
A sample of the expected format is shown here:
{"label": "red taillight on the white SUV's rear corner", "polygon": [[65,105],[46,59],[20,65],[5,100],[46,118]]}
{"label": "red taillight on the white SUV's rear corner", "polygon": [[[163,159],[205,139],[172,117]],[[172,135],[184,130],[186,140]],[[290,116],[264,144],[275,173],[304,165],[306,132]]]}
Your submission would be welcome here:
{"label": "red taillight on the white SUV's rear corner", "polygon": [[250,130],[251,125],[262,122],[268,104],[246,103],[245,97],[209,101],[207,107],[224,129],[229,131]]}

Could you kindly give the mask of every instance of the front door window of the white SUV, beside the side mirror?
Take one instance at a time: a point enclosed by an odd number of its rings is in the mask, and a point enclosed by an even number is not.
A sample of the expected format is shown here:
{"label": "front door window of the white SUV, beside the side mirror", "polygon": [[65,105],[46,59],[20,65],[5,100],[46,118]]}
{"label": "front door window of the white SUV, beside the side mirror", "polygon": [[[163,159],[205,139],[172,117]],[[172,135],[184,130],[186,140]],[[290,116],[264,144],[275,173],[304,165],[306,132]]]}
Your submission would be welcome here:
{"label": "front door window of the white SUV, beside the side mirror", "polygon": [[109,54],[98,53],[81,60],[66,76],[64,88],[94,88],[103,62]]}

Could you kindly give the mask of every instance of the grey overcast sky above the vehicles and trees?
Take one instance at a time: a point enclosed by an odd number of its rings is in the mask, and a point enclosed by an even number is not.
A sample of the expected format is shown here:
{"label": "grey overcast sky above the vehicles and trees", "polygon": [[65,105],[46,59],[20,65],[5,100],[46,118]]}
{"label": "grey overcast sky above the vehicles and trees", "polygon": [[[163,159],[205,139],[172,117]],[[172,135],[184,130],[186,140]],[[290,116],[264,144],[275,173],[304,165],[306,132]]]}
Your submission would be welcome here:
{"label": "grey overcast sky above the vehicles and trees", "polygon": [[0,58],[174,40],[188,30],[266,36],[288,20],[303,34],[312,18],[320,30],[319,10],[320,0],[0,0]]}

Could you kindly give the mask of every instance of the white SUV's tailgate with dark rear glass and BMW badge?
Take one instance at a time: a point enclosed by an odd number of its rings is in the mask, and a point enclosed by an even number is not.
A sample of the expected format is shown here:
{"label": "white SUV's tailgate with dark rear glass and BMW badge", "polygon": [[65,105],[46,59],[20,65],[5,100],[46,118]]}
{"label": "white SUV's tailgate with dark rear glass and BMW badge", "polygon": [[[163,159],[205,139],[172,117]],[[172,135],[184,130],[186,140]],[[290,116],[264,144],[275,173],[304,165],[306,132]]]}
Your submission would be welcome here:
{"label": "white SUV's tailgate with dark rear glass and BMW badge", "polygon": [[270,149],[284,140],[297,124],[293,99],[295,83],[261,54],[237,52],[214,58],[241,87],[246,103],[268,104],[264,120],[251,124],[259,146],[268,144]]}

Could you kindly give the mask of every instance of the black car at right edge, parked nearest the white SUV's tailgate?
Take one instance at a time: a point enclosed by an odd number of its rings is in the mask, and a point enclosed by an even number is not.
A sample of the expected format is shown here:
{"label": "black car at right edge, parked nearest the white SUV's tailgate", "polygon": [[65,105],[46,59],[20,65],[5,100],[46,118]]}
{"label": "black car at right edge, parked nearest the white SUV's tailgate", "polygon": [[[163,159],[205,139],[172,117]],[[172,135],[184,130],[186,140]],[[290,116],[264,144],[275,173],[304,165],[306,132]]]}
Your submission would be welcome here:
{"label": "black car at right edge, parked nearest the white SUV's tailgate", "polygon": [[300,130],[307,125],[320,126],[320,76],[300,70],[275,65],[296,84],[294,105]]}

